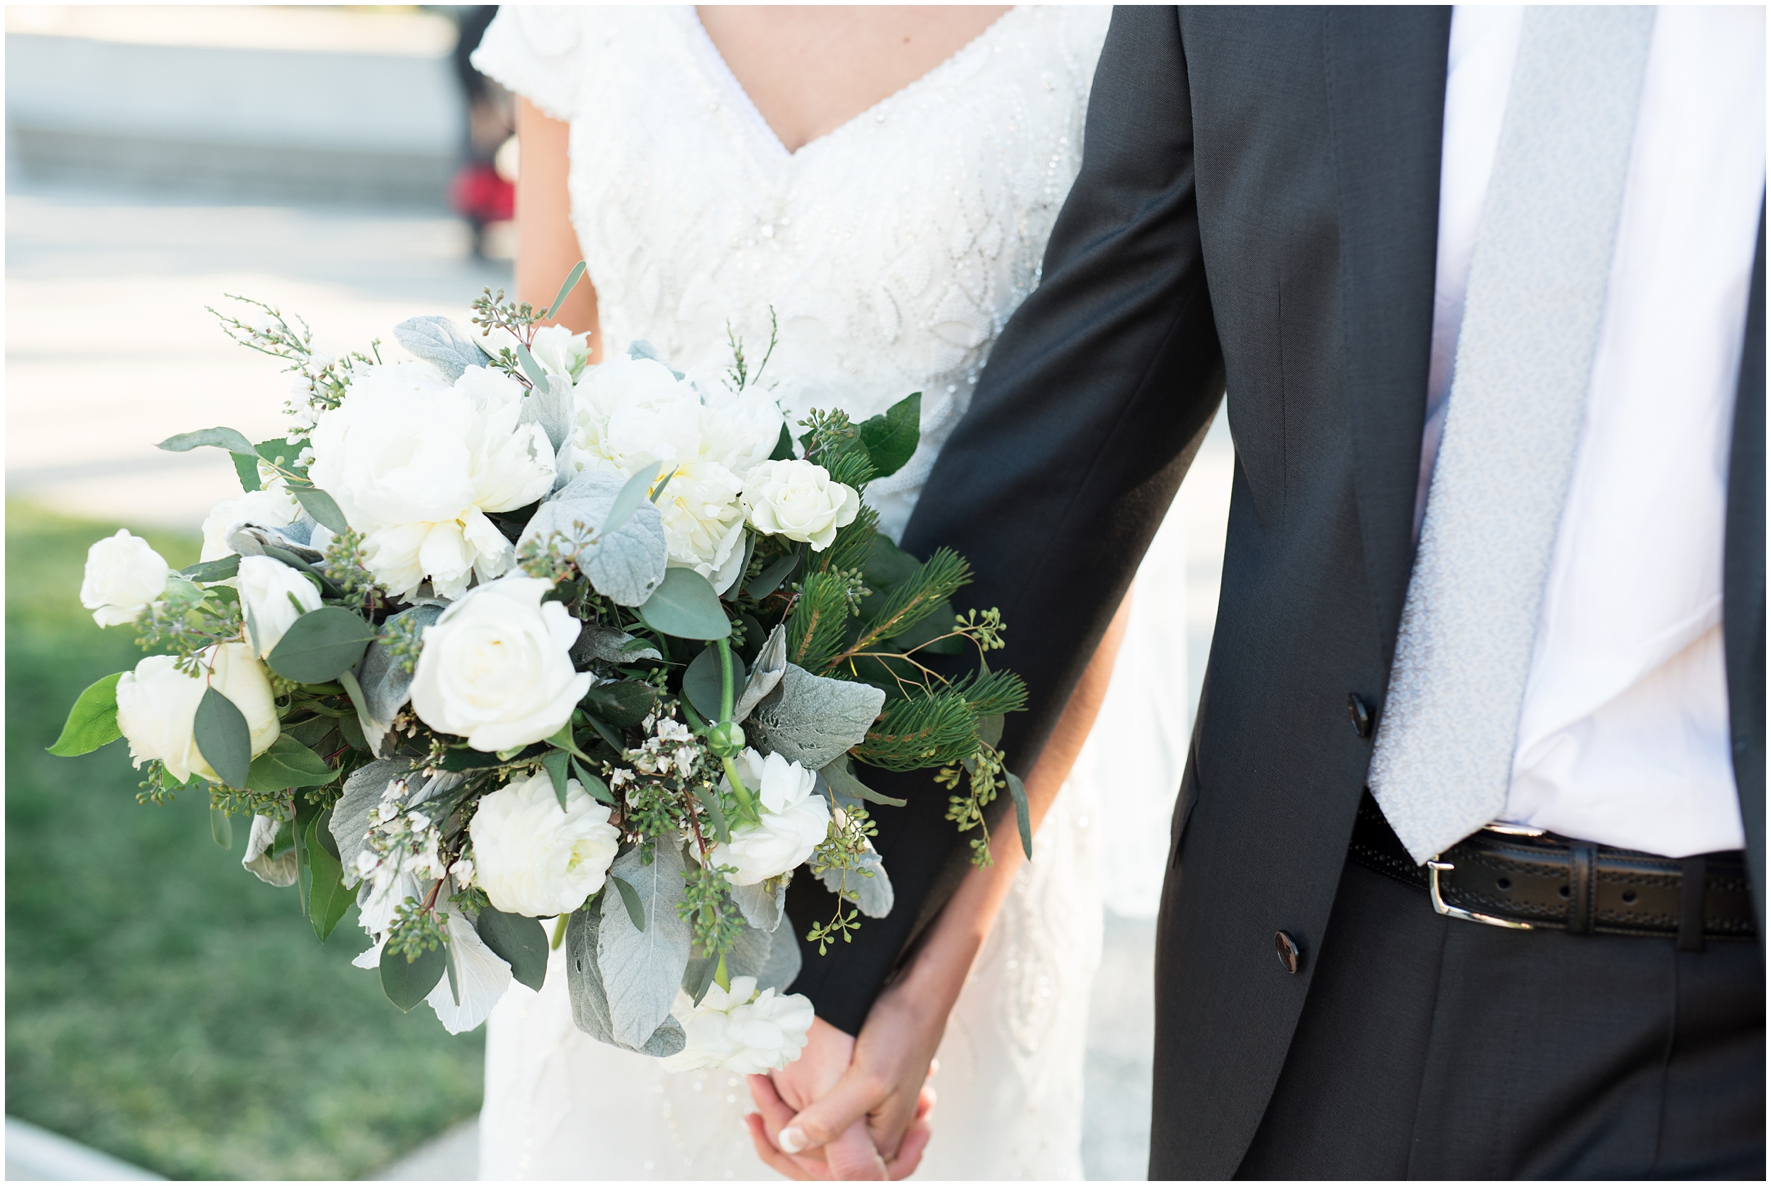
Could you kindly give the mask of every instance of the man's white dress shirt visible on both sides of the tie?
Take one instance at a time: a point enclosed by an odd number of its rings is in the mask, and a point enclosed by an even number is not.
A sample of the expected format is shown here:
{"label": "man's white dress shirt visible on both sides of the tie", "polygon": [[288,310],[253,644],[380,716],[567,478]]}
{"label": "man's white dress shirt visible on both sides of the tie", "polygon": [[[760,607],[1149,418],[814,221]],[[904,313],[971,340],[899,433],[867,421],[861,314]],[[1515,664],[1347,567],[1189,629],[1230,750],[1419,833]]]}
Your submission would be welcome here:
{"label": "man's white dress shirt visible on both sides of the tie", "polygon": [[[1520,7],[1452,11],[1417,535],[1521,23]],[[1656,12],[1505,821],[1667,857],[1744,844],[1721,545],[1764,87],[1762,7]]]}

